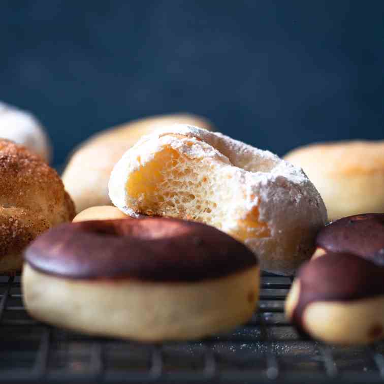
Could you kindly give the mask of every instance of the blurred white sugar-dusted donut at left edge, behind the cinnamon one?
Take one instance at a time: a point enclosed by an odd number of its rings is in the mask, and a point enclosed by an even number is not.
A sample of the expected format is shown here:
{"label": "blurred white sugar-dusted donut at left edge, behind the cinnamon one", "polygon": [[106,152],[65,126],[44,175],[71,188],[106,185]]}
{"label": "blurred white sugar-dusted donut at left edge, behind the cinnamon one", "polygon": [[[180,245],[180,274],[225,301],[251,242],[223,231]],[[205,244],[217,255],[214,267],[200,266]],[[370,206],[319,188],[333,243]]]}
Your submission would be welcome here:
{"label": "blurred white sugar-dusted donut at left edge, behind the cinnamon one", "polygon": [[0,137],[25,145],[49,162],[51,146],[39,120],[29,112],[0,102]]}

